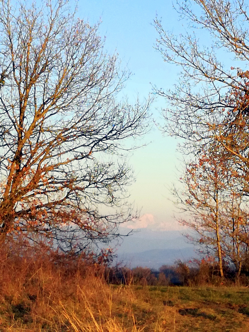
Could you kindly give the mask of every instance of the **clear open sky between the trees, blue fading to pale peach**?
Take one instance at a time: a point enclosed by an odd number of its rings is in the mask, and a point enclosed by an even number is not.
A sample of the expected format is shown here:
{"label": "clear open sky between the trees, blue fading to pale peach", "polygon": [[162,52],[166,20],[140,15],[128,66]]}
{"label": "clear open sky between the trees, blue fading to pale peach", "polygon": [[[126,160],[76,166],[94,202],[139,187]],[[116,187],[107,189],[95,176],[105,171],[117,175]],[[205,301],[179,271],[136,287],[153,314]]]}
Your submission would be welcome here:
{"label": "clear open sky between the trees, blue fading to pale peach", "polygon": [[[178,14],[171,1],[91,0],[79,1],[78,6],[79,16],[87,19],[90,24],[102,21],[99,34],[106,36],[106,49],[110,53],[117,50],[123,64],[128,63],[134,75],[127,82],[123,93],[131,102],[134,102],[137,95],[140,99],[148,97],[152,91],[150,82],[163,89],[173,85],[177,79],[177,70],[165,63],[153,48],[157,33],[152,26],[157,14],[162,17],[166,30],[179,32],[182,22],[178,21]],[[159,114],[161,107],[166,107],[166,101],[158,97],[151,112],[155,121],[163,123]],[[129,188],[130,199],[141,208],[141,221],[128,227],[146,227],[147,230],[157,231],[180,229],[181,226],[172,218],[173,204],[167,199],[167,187],[180,177],[176,170],[179,165],[177,141],[163,136],[156,127],[144,140],[151,143],[134,151],[129,159],[136,176],[136,183]]]}

